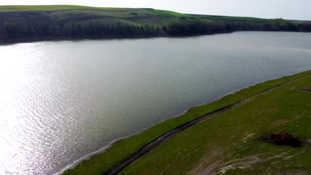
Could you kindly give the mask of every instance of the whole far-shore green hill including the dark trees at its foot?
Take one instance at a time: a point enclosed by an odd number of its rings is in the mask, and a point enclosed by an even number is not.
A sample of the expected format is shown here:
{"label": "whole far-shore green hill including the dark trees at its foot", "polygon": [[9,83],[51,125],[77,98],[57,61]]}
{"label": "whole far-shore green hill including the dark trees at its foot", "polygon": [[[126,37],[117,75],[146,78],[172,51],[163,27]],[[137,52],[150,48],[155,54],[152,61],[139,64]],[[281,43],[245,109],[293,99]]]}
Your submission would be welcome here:
{"label": "whole far-shore green hill including the dark trees at its foot", "polygon": [[183,14],[149,8],[0,6],[0,41],[157,37],[234,31],[309,32],[294,20]]}

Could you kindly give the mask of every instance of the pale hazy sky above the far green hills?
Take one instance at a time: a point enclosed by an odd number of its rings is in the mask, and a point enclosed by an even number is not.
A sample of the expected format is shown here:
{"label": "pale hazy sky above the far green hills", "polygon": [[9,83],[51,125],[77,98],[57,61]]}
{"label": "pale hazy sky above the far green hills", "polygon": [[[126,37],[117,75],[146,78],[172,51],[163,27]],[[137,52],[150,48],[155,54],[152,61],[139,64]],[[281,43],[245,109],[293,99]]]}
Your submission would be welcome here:
{"label": "pale hazy sky above the far green hills", "polygon": [[311,0],[0,0],[0,5],[43,4],[143,7],[193,14],[311,20]]}

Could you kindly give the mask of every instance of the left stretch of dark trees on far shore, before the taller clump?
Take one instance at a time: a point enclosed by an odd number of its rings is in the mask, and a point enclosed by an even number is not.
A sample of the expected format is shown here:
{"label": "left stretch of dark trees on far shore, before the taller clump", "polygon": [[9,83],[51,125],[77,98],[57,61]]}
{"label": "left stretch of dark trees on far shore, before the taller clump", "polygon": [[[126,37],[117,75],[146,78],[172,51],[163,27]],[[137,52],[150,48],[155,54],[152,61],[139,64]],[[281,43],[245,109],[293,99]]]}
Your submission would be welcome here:
{"label": "left stretch of dark trees on far shore, before the taller clump", "polygon": [[107,25],[102,23],[78,24],[71,21],[65,25],[50,26],[46,23],[36,23],[26,26],[6,23],[0,25],[0,40],[18,40],[20,38],[48,37],[130,37],[154,36],[161,34],[161,29],[154,26],[134,26],[118,23]]}

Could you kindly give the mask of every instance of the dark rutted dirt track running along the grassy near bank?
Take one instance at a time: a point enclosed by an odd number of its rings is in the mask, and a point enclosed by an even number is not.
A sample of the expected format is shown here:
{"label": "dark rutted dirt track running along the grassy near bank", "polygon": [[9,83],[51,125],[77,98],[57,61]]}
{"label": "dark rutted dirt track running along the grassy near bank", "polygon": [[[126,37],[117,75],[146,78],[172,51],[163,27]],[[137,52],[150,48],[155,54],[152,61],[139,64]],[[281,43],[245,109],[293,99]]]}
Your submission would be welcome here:
{"label": "dark rutted dirt track running along the grassy near bank", "polygon": [[191,127],[191,126],[193,126],[193,125],[195,125],[195,124],[197,124],[197,123],[200,123],[200,122],[202,122],[202,121],[204,121],[204,120],[206,120],[206,119],[208,119],[208,118],[211,118],[211,117],[214,117],[214,116],[216,116],[216,115],[222,114],[222,113],[224,113],[224,112],[226,112],[226,111],[229,111],[229,110],[231,110],[232,108],[235,108],[235,107],[237,107],[237,106],[240,106],[240,105],[242,105],[242,104],[244,104],[244,103],[246,103],[246,102],[249,102],[249,101],[251,101],[251,100],[253,100],[253,99],[255,99],[255,98],[259,97],[259,96],[262,96],[262,95],[264,95],[264,94],[267,94],[267,93],[269,93],[269,92],[271,92],[271,91],[274,91],[274,90],[277,90],[277,89],[279,89],[279,88],[282,88],[282,87],[285,86],[285,85],[291,84],[291,83],[293,83],[293,82],[297,82],[297,81],[299,81],[299,80],[302,80],[302,79],[305,79],[305,78],[308,78],[308,77],[311,77],[311,75],[305,75],[305,76],[303,76],[303,77],[300,77],[300,78],[297,78],[297,79],[294,79],[294,80],[287,81],[287,82],[285,82],[285,83],[279,84],[279,85],[277,85],[277,86],[274,86],[274,87],[271,88],[271,89],[265,90],[265,91],[263,91],[263,92],[261,92],[261,93],[259,93],[259,94],[256,94],[256,95],[254,95],[254,96],[252,96],[252,97],[249,97],[249,98],[247,98],[247,99],[244,99],[244,100],[242,100],[242,101],[240,101],[240,102],[237,102],[237,103],[235,103],[235,104],[226,106],[226,107],[224,107],[224,108],[220,108],[219,110],[214,111],[214,112],[211,113],[211,114],[204,115],[204,116],[199,117],[199,118],[196,118],[196,119],[194,119],[194,120],[192,120],[192,121],[190,121],[190,122],[188,122],[188,123],[185,123],[185,124],[183,124],[183,125],[181,125],[181,126],[179,126],[179,127],[176,127],[175,129],[171,130],[170,132],[166,133],[165,135],[163,135],[163,136],[159,137],[158,139],[154,140],[153,142],[151,142],[151,143],[148,144],[147,146],[142,147],[139,151],[137,151],[134,155],[132,155],[131,157],[129,157],[127,160],[125,160],[125,161],[123,161],[123,162],[117,164],[116,166],[114,166],[112,169],[110,169],[109,171],[107,171],[107,172],[104,173],[104,174],[109,174],[109,175],[110,175],[110,174],[117,174],[117,173],[119,173],[119,172],[122,171],[125,167],[127,167],[128,165],[130,165],[132,162],[138,160],[140,157],[142,157],[143,155],[145,155],[145,154],[146,154],[148,151],[150,151],[152,148],[159,146],[162,142],[164,142],[164,141],[170,139],[171,137],[173,137],[173,136],[175,136],[175,135],[181,133],[183,130],[187,129],[188,127]]}

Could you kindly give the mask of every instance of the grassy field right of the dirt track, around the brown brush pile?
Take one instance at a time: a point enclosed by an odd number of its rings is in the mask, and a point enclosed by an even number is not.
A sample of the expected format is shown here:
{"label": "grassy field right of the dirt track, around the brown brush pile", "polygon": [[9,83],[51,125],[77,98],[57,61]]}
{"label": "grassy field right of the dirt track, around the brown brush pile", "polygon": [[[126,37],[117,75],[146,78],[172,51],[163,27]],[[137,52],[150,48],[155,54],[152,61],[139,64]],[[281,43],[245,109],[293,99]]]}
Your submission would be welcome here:
{"label": "grassy field right of the dirt track, around the brown brush pile", "polygon": [[121,174],[310,173],[311,144],[294,148],[258,140],[282,131],[302,141],[311,138],[311,92],[302,90],[310,86],[308,77],[199,123]]}

